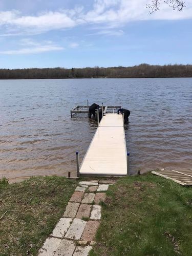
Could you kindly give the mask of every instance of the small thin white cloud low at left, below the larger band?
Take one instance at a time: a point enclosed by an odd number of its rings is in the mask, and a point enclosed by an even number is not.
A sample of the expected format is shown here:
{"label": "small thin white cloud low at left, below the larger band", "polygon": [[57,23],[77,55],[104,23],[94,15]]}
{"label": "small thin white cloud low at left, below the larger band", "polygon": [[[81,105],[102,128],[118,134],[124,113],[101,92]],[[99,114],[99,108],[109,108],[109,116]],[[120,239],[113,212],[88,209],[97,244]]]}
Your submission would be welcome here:
{"label": "small thin white cloud low at left, below the larger band", "polygon": [[0,54],[4,54],[4,55],[33,54],[33,53],[64,50],[63,47],[54,45],[53,42],[51,42],[51,41],[44,41],[44,42],[39,43],[39,42],[35,42],[29,38],[24,38],[24,39],[20,40],[19,45],[27,46],[27,47],[17,49],[17,50],[0,51]]}

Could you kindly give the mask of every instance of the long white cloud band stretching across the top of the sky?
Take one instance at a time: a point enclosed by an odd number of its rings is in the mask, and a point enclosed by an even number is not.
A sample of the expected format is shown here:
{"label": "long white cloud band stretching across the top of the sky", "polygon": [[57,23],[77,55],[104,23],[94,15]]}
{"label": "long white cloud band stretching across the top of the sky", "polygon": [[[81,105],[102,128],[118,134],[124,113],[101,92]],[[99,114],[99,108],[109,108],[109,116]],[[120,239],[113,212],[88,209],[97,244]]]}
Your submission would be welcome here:
{"label": "long white cloud band stretching across the top of the sky", "polygon": [[80,6],[55,12],[47,11],[37,15],[22,15],[17,10],[2,11],[0,12],[1,36],[34,35],[51,30],[71,29],[79,25],[120,28],[126,23],[136,20],[192,18],[191,1],[186,3],[187,7],[181,12],[173,11],[162,1],[160,11],[149,15],[146,4],[151,3],[151,1],[95,0],[92,9],[89,11],[85,11]]}

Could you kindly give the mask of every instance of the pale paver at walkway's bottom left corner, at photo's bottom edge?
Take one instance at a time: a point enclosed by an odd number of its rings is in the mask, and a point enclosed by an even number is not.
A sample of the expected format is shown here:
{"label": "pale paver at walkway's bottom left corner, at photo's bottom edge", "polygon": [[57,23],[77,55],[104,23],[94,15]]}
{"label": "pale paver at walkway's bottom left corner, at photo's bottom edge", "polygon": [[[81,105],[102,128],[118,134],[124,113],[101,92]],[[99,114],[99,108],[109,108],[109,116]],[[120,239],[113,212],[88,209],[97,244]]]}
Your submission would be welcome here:
{"label": "pale paver at walkway's bottom left corner, at photo's bottom edge", "polygon": [[38,251],[38,255],[53,256],[60,242],[59,238],[47,238],[42,248]]}

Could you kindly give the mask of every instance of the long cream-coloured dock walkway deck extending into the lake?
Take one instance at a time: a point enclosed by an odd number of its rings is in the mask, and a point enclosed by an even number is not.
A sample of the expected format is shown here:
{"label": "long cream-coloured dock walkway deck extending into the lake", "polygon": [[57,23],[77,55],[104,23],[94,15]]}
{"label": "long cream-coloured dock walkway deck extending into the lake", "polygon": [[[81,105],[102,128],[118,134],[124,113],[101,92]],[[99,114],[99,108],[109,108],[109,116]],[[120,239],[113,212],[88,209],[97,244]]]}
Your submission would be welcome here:
{"label": "long cream-coloured dock walkway deck extending into the lake", "polygon": [[127,153],[123,116],[102,117],[79,168],[80,176],[127,175]]}

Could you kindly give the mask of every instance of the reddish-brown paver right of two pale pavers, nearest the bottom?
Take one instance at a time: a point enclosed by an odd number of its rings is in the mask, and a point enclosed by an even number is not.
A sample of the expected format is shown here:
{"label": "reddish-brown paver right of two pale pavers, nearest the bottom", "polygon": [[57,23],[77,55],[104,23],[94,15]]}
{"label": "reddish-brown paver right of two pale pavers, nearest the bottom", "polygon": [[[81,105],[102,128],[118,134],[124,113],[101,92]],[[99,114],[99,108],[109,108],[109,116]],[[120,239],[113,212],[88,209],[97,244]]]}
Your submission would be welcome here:
{"label": "reddish-brown paver right of two pale pavers, nearest the bottom", "polygon": [[82,233],[81,240],[94,241],[99,225],[99,221],[88,221]]}

